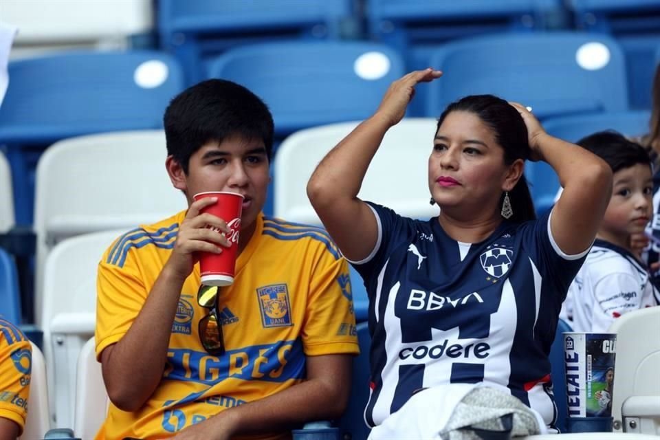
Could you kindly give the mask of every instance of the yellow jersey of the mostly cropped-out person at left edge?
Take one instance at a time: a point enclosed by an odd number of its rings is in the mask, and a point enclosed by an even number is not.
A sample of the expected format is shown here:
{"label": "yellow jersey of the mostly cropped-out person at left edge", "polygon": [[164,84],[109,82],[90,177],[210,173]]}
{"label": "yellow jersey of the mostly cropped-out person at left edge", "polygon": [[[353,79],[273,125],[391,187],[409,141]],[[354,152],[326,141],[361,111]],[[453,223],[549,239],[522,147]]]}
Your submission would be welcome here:
{"label": "yellow jersey of the mostly cropped-out person at left edge", "polygon": [[28,415],[32,347],[18,327],[0,316],[0,417],[19,425]]}

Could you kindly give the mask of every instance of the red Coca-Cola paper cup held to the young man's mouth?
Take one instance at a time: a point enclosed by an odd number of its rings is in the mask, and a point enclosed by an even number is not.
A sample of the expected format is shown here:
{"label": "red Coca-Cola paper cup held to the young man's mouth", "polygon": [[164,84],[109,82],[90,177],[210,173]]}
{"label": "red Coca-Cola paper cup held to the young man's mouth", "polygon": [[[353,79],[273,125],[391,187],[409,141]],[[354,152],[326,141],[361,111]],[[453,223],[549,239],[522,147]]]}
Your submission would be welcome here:
{"label": "red Coca-Cola paper cup held to the young man's mouth", "polygon": [[199,256],[199,269],[201,283],[208,286],[228,286],[234,283],[234,269],[236,254],[239,250],[239,230],[241,229],[241,211],[243,210],[243,196],[235,192],[209,191],[200,192],[192,196],[195,201],[204,197],[217,197],[218,201],[211,206],[203,208],[201,212],[208,212],[227,222],[230,232],[224,235],[232,243],[230,248],[222,248],[220,254],[201,252]]}

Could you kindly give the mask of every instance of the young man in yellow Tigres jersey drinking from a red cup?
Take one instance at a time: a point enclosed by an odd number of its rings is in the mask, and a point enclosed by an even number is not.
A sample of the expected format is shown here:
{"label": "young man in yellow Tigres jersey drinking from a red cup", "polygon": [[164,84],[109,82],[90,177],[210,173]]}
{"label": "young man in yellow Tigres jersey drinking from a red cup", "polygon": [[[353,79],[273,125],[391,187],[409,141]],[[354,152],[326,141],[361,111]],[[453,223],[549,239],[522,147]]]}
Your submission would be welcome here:
{"label": "young man in yellow Tigres jersey drinking from a red cup", "polygon": [[[207,80],[170,103],[164,124],[167,172],[188,210],[102,257],[96,353],[111,406],[97,438],[287,438],[338,417],[358,353],[348,267],[325,230],[261,213],[270,111],[240,85]],[[199,252],[221,252],[228,228],[200,214],[214,203],[193,201],[204,191],[245,196],[234,283],[206,291]]]}

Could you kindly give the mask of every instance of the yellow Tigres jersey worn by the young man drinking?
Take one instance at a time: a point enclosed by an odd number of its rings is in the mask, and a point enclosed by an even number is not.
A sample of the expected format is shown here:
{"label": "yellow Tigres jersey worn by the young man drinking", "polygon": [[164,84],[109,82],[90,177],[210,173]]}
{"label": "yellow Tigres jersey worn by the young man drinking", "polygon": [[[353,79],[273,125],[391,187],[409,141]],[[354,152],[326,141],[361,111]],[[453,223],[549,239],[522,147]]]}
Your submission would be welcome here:
{"label": "yellow Tigres jersey worn by the young man drinking", "polygon": [[[127,232],[103,255],[97,358],[131,327],[185,215]],[[162,382],[136,412],[111,405],[98,439],[170,437],[221,410],[300,383],[306,355],[358,353],[348,265],[325,230],[259,215],[236,260],[234,284],[220,291],[226,349],[220,357],[199,341],[199,320],[209,312],[197,304],[199,286],[197,264],[181,291]],[[283,435],[289,433],[268,437]]]}

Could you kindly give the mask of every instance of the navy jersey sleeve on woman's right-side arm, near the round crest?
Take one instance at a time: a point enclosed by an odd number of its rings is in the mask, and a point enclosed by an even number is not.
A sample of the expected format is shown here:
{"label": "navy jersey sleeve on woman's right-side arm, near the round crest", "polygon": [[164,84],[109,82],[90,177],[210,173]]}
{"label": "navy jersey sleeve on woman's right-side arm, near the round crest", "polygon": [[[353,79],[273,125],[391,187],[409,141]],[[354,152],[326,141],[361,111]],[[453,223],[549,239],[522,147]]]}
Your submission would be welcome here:
{"label": "navy jersey sleeve on woman's right-side arm, near the round crest", "polygon": [[556,294],[555,299],[562,303],[591,246],[580,254],[562,252],[550,230],[551,216],[550,211],[536,221],[524,223],[522,241],[543,283],[549,283],[547,287],[550,287],[550,292]]}

